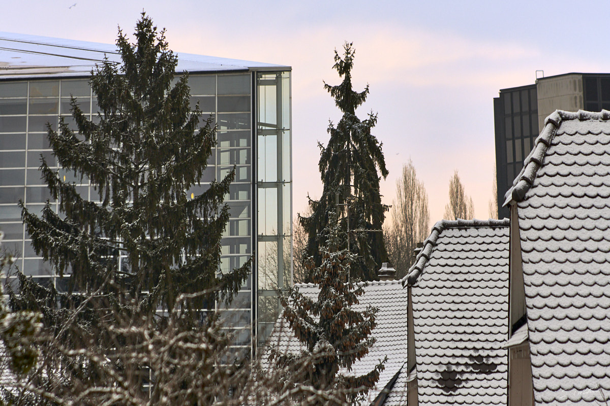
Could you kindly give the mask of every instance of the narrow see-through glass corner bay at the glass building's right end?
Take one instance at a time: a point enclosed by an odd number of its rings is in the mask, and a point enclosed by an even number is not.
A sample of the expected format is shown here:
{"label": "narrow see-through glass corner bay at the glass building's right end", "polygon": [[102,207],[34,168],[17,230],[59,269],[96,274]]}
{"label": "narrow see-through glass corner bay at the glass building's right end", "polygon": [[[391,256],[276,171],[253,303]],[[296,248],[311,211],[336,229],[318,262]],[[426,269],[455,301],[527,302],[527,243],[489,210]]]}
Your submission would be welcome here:
{"label": "narrow see-through glass corner bay at the glass building's right end", "polygon": [[279,315],[278,295],[292,285],[290,72],[258,72],[258,345]]}

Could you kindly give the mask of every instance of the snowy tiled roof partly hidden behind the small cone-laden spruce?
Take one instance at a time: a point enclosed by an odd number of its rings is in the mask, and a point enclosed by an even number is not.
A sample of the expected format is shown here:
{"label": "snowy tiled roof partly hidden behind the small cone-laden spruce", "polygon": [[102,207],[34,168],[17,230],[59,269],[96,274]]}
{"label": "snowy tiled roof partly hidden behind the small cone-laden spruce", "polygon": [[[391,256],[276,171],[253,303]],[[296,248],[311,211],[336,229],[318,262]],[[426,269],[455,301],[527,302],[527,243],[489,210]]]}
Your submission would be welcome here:
{"label": "snowy tiled roof partly hidden behind the small cone-laden spruce", "polygon": [[[318,287],[314,284],[296,285],[301,293],[317,298]],[[368,282],[364,287],[364,295],[359,297],[359,304],[356,309],[365,309],[367,306],[377,307],[375,323],[377,326],[373,330],[372,336],[375,337],[373,345],[364,358],[354,363],[351,374],[354,376],[370,372],[379,363],[379,360],[387,356],[385,368],[379,376],[379,381],[374,390],[368,394],[371,401],[379,394],[387,383],[403,368],[407,360],[407,290],[403,289],[401,281],[373,281]],[[280,351],[298,352],[300,343],[292,331],[278,320],[276,326],[267,340],[271,345],[275,345]],[[406,369],[406,366],[405,366]],[[408,373],[407,373],[408,374]],[[404,378],[406,379],[406,377]],[[404,386],[404,402],[392,402],[392,405],[406,405],[406,385]],[[396,390],[394,385],[392,390]],[[390,393],[392,393],[390,390]],[[399,399],[401,394],[397,394]],[[395,400],[396,400],[395,399]],[[384,403],[384,405],[389,405]]]}

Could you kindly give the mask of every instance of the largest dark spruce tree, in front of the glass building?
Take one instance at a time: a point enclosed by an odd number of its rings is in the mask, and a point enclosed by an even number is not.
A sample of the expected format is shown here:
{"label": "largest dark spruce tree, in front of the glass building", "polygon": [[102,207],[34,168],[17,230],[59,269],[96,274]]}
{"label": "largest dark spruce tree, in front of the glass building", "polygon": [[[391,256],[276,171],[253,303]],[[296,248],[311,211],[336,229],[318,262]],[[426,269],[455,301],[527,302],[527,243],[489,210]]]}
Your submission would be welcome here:
{"label": "largest dark spruce tree, in front of the glass building", "polygon": [[143,298],[151,308],[171,308],[179,293],[212,289],[214,296],[229,297],[248,271],[246,265],[217,277],[229,219],[222,201],[234,173],[187,196],[215,143],[212,117],[199,127],[201,111],[189,107],[188,75],[172,85],[178,58],[144,14],[135,40],[129,43],[120,31],[123,62],[106,60],[92,73],[98,119],[87,119],[73,99],[78,133],[63,119],[59,131],[48,131],[59,164],[89,180],[100,201],[81,197],[43,161],[42,177],[63,215],[49,205],[41,218],[23,208],[27,232],[35,251],[59,275],[70,273],[71,287],[80,292],[112,281],[136,294],[148,292]]}

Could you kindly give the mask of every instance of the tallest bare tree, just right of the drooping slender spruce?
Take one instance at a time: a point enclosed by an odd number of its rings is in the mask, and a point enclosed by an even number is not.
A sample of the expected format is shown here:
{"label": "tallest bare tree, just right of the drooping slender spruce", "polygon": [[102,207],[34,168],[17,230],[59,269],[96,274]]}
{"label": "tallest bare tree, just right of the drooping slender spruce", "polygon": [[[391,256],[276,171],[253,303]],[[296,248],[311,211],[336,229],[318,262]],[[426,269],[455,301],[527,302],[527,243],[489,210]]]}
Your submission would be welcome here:
{"label": "tallest bare tree, just right of the drooping slender spruce", "polygon": [[428,237],[430,222],[428,194],[417,179],[411,159],[403,165],[403,175],[396,182],[396,200],[390,214],[392,223],[384,229],[384,237],[397,276],[402,278],[413,263],[417,243]]}

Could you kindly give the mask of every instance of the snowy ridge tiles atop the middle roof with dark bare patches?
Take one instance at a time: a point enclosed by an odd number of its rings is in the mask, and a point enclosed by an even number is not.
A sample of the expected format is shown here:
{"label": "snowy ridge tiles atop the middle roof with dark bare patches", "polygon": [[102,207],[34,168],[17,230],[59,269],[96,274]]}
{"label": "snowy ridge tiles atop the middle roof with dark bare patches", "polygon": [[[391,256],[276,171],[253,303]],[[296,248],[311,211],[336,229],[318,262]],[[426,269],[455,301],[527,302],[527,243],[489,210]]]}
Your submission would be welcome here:
{"label": "snowy ridge tiles atop the middle roof with dark bare patches", "polygon": [[426,266],[432,250],[436,247],[436,242],[439,239],[440,234],[448,228],[482,228],[482,227],[508,227],[510,225],[509,219],[489,219],[489,220],[440,220],[432,227],[432,231],[426,240],[423,242],[422,250],[415,257],[415,263],[411,265],[407,275],[403,279],[400,279],[404,285],[414,285],[417,282],[417,278],[422,274],[423,268]]}

